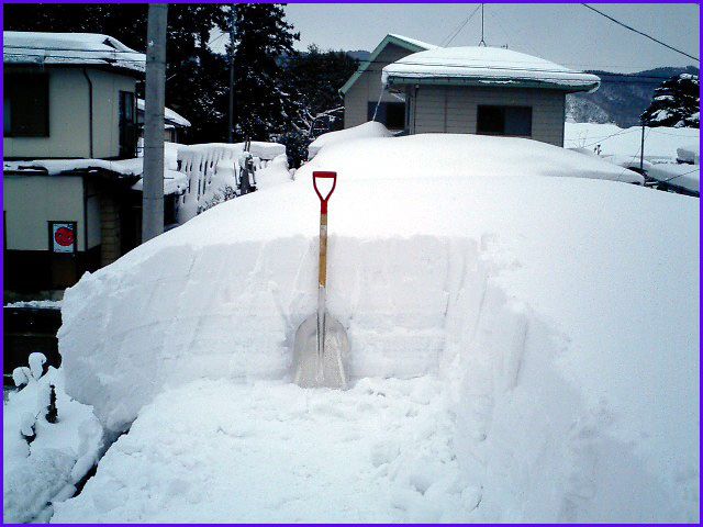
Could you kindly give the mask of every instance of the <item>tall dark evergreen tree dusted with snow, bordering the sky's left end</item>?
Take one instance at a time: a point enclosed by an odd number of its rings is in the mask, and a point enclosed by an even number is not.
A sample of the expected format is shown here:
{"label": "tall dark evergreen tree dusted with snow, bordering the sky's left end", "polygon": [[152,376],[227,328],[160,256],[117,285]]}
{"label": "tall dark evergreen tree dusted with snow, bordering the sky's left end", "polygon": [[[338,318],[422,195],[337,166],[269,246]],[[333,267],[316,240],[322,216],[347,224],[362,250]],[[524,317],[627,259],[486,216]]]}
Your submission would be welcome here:
{"label": "tall dark evergreen tree dusted with snow, bordering the sky's left end", "polygon": [[283,61],[300,40],[284,20],[284,4],[239,3],[235,27],[235,135],[268,141],[283,133],[294,94],[283,89]]}

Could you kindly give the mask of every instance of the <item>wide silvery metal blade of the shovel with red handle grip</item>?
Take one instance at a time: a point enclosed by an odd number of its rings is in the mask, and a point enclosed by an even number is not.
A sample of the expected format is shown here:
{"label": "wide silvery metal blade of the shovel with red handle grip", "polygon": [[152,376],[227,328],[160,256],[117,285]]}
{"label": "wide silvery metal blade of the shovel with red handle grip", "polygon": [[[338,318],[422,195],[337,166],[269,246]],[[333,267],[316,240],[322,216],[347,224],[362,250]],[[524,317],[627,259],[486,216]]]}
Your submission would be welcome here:
{"label": "wide silvery metal blade of the shovel with red handle grip", "polygon": [[317,314],[305,318],[295,332],[293,367],[295,384],[302,388],[346,389],[349,340],[344,326],[325,312],[324,345],[317,349]]}

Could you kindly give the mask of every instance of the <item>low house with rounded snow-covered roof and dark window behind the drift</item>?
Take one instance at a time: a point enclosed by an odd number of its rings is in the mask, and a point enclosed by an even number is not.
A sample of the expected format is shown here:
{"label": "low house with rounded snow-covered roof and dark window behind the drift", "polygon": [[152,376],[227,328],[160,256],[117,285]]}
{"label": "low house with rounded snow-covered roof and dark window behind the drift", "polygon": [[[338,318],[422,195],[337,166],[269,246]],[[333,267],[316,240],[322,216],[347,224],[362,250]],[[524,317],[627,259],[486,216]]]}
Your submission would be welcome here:
{"label": "low house with rounded snow-covered roof and dark window behind the drift", "polygon": [[[429,47],[381,65],[366,82],[384,87],[382,101],[403,101],[395,110],[403,110],[402,126],[394,123],[393,130],[408,134],[509,135],[563,146],[567,93],[600,86],[594,75],[487,46]],[[345,116],[362,110],[359,98],[347,97],[357,82],[352,77],[345,85]],[[373,105],[369,100],[367,115]],[[345,120],[345,127],[357,121]]]}

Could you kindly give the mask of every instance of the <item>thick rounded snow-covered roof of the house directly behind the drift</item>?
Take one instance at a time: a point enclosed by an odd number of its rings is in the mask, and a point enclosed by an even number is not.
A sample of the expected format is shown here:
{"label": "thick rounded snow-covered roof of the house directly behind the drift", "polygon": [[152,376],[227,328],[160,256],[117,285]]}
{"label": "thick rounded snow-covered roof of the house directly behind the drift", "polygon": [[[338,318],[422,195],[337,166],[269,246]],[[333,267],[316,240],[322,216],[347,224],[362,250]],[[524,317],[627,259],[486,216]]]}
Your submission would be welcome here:
{"label": "thick rounded snow-covered roof of the house directly behind the drift", "polygon": [[437,47],[414,53],[383,68],[384,85],[448,83],[549,87],[594,91],[601,79],[543,58],[501,47]]}

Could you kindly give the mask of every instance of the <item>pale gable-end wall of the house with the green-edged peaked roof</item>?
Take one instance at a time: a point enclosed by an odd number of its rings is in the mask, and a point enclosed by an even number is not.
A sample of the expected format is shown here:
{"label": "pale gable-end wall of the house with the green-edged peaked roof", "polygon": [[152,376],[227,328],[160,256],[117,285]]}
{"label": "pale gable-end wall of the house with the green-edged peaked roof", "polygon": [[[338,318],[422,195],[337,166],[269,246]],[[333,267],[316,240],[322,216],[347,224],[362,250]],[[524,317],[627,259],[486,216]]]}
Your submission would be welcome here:
{"label": "pale gable-end wall of the house with the green-edged peaked roof", "polygon": [[[395,60],[406,57],[410,52],[395,44],[386,46],[373,64],[364,71],[356,82],[349,88],[344,97],[344,127],[358,126],[368,121],[367,108],[369,102],[377,103],[381,93],[381,71]],[[399,102],[398,98],[386,91],[381,98],[382,102]]]}

